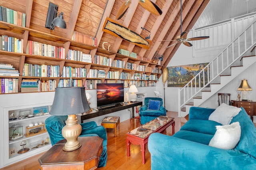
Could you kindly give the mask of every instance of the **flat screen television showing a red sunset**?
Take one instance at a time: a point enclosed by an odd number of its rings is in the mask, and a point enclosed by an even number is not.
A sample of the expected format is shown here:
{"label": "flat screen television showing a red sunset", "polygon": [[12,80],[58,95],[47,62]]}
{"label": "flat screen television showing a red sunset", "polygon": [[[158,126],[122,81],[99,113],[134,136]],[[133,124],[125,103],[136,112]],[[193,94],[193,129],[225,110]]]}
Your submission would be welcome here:
{"label": "flat screen television showing a red sunset", "polygon": [[123,83],[98,83],[97,107],[110,106],[124,102]]}

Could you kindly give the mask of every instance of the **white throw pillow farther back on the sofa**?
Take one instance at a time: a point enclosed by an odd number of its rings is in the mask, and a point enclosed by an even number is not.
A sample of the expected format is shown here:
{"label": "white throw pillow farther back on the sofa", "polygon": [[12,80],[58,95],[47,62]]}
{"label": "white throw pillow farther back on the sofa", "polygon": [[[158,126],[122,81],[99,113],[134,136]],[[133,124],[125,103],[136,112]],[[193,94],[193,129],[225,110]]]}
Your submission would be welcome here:
{"label": "white throw pillow farther back on the sofa", "polygon": [[210,114],[209,120],[216,121],[222,125],[228,125],[241,110],[241,108],[228,106],[223,103]]}

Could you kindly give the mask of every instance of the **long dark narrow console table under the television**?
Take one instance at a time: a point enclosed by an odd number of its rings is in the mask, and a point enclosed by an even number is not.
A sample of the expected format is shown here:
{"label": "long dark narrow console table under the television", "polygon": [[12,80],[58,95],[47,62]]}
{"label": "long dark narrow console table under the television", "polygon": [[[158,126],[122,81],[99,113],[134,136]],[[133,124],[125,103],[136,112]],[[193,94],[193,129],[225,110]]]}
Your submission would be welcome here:
{"label": "long dark narrow console table under the television", "polygon": [[142,102],[129,102],[128,104],[123,104],[122,106],[115,106],[115,107],[110,107],[107,109],[100,109],[98,111],[92,109],[85,113],[77,114],[76,117],[78,119],[78,123],[83,123],[83,121],[86,119],[106,115],[108,113],[113,113],[116,111],[120,111],[120,110],[124,110],[124,109],[128,109],[128,108],[132,107],[132,118],[134,118],[134,107],[135,106],[142,106]]}

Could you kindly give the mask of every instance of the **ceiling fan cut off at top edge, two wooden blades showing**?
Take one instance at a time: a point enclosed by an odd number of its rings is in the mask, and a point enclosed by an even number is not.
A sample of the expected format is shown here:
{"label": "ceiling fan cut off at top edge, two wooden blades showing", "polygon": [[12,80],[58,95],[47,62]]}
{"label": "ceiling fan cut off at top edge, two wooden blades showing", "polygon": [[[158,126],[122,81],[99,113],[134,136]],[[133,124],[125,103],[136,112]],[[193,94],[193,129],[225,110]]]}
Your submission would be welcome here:
{"label": "ceiling fan cut off at top edge, two wooden blades showing", "polygon": [[[162,14],[162,10],[151,0],[138,0],[140,5],[148,10],[150,13],[155,14],[157,16],[160,16]],[[128,10],[128,7],[130,5],[130,0],[126,0],[120,9],[117,12],[116,20],[120,20],[122,16],[124,16],[125,12]]]}

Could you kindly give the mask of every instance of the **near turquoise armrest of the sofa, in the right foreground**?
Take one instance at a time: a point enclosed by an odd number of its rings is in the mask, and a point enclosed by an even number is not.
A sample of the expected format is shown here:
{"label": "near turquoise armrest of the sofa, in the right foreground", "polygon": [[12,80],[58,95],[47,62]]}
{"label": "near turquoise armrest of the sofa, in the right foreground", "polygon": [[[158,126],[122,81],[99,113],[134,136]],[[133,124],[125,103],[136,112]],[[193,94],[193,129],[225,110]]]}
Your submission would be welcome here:
{"label": "near turquoise armrest of the sofa, in the right foreground", "polygon": [[153,133],[148,139],[151,170],[241,170],[255,169],[256,160],[248,154],[224,150],[176,137]]}

